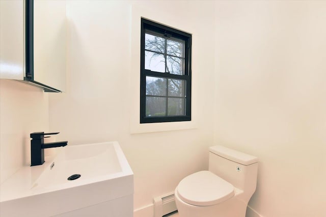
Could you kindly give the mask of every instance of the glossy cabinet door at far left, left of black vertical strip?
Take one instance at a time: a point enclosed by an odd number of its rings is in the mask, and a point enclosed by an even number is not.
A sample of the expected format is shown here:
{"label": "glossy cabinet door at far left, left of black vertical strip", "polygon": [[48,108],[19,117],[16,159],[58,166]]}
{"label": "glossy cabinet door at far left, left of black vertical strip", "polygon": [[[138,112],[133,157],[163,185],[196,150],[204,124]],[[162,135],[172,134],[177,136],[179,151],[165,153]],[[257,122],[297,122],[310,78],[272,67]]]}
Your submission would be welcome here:
{"label": "glossy cabinet door at far left, left of black vertical strip", "polygon": [[24,79],[24,2],[0,1],[0,78]]}

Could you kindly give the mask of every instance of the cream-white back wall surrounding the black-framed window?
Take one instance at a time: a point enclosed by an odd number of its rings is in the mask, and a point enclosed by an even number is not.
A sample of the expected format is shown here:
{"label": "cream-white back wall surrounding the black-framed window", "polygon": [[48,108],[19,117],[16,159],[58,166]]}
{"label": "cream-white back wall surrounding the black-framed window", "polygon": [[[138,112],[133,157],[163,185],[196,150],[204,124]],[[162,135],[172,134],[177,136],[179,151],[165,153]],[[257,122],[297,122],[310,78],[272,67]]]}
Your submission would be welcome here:
{"label": "cream-white back wall surrounding the black-framed window", "polygon": [[[49,97],[50,130],[61,132],[57,140],[69,145],[119,141],[134,172],[135,209],[174,191],[184,176],[207,169],[213,142],[213,14],[213,2],[67,5],[68,86],[66,93]],[[139,116],[134,98],[139,99],[140,16],[193,34],[193,129],[130,133],[135,113]]]}

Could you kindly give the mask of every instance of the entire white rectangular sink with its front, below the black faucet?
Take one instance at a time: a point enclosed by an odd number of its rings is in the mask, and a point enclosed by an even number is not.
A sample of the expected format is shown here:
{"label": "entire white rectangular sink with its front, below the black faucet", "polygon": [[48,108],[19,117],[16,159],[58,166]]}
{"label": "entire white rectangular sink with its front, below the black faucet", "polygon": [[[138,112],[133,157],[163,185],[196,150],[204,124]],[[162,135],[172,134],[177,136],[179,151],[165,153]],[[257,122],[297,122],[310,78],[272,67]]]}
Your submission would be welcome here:
{"label": "entire white rectangular sink with its front, below the black faucet", "polygon": [[[96,216],[132,216],[133,173],[118,142],[60,149],[1,185],[1,216],[95,216],[94,210],[103,212]],[[74,174],[80,177],[68,180]],[[114,211],[119,204],[127,207],[124,214]]]}

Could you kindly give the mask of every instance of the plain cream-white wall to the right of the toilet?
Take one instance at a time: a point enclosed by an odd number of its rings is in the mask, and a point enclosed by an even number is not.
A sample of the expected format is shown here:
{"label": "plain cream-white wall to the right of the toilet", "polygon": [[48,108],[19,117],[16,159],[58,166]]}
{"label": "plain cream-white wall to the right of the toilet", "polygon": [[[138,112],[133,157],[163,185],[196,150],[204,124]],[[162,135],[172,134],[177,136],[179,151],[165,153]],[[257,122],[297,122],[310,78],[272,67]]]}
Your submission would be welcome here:
{"label": "plain cream-white wall to the right of the toilet", "polygon": [[259,157],[261,216],[326,216],[326,2],[215,9],[215,143]]}

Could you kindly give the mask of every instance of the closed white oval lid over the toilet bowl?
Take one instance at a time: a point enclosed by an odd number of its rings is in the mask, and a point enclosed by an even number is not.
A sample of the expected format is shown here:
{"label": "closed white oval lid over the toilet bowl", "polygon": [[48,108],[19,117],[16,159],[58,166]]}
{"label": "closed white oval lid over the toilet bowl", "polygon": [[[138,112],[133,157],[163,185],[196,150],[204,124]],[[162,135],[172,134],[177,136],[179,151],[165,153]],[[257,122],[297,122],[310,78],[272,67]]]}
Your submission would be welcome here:
{"label": "closed white oval lid over the toilet bowl", "polygon": [[210,171],[188,175],[178,185],[180,199],[188,204],[209,206],[234,196],[234,187]]}

